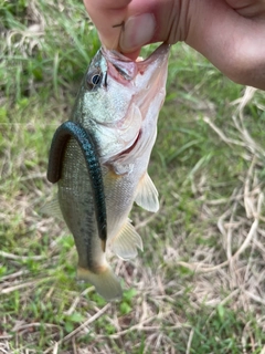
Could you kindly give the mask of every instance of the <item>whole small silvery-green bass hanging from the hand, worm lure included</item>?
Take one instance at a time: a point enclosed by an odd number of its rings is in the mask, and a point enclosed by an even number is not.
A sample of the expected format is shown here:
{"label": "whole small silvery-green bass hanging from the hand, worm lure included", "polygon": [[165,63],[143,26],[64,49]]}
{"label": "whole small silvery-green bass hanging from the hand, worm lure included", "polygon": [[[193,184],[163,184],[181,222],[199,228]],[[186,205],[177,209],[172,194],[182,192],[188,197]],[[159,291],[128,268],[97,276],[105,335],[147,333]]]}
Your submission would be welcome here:
{"label": "whole small silvery-green bass hanging from the hand, worm lure included", "polygon": [[132,205],[159,209],[148,165],[166,96],[169,52],[170,45],[162,43],[146,60],[132,61],[100,48],[70,121],[52,142],[47,179],[56,183],[57,195],[46,210],[62,218],[74,236],[77,278],[106,301],[123,296],[106,250],[124,260],[137,257],[142,240],[129,219]]}

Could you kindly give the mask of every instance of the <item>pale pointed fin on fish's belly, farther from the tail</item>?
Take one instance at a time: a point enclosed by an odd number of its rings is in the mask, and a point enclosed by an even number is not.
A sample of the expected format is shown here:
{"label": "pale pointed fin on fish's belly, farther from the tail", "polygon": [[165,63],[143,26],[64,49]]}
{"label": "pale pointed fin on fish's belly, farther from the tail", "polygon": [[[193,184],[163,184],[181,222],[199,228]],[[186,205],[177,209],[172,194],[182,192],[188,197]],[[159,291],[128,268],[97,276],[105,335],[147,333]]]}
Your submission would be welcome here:
{"label": "pale pointed fin on fish's belly, farther from the tail", "polygon": [[156,212],[159,209],[158,191],[148,173],[139,181],[135,202],[148,211]]}

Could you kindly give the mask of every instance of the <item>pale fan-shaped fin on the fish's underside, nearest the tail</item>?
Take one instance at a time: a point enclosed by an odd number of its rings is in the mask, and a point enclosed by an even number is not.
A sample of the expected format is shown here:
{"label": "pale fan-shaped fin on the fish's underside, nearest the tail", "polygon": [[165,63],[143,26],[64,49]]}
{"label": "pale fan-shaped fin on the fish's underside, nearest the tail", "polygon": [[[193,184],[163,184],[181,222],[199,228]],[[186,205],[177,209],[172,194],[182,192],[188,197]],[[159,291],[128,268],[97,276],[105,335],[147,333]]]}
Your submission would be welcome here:
{"label": "pale fan-shaped fin on the fish's underside, nearest the tail", "polygon": [[136,232],[136,229],[128,219],[120,232],[113,240],[113,251],[119,258],[128,260],[136,258],[138,254],[137,248],[142,251],[141,237]]}

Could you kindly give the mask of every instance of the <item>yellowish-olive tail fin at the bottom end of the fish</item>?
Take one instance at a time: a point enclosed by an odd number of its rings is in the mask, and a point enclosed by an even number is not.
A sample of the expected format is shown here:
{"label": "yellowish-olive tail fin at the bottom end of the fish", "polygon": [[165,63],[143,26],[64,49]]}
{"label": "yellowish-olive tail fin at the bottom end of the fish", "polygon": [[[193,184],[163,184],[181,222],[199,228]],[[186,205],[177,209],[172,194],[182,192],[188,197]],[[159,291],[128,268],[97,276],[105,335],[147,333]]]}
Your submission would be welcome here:
{"label": "yellowish-olive tail fin at the bottom end of the fish", "polygon": [[119,280],[109,267],[99,273],[78,267],[77,278],[92,283],[106,301],[118,300],[123,295]]}

